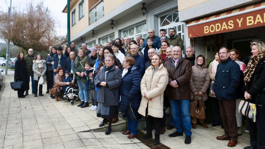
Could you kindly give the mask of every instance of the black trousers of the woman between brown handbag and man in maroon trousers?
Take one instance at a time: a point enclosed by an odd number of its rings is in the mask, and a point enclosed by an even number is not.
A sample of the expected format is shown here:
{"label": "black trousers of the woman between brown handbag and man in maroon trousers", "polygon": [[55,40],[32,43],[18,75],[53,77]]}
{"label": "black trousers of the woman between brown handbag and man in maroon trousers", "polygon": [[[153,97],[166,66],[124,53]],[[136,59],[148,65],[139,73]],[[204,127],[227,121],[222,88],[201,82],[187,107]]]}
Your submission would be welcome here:
{"label": "black trousers of the woman between brown handbag and man in maroon trousers", "polygon": [[213,121],[212,124],[214,125],[221,125],[223,126],[223,120],[220,116],[220,108],[219,108],[219,103],[218,99],[214,97],[210,97],[211,104],[212,104],[212,112],[213,112]]}

